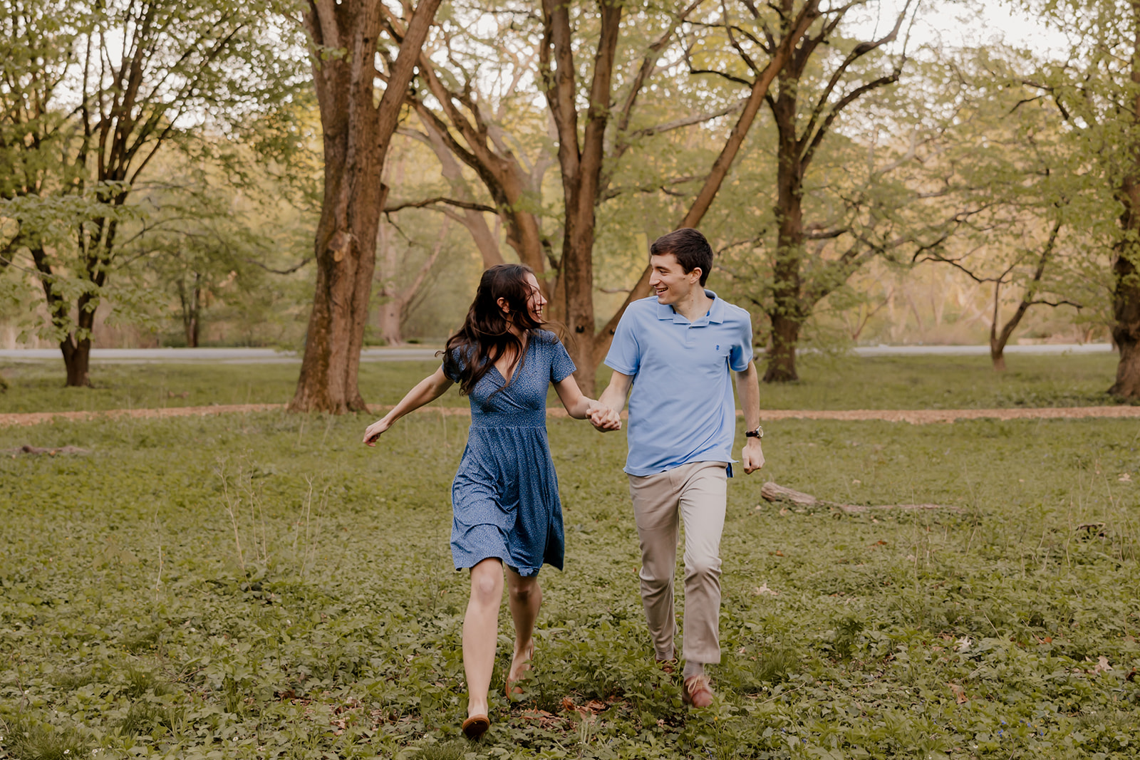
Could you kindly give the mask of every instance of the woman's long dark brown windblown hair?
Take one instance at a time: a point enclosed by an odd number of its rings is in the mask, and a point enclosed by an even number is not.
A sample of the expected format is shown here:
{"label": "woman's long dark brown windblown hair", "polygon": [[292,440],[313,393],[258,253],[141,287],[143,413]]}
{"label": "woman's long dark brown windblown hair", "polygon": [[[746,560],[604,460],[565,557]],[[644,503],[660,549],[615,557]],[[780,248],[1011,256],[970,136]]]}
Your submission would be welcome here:
{"label": "woman's long dark brown windblown hair", "polygon": [[543,327],[527,305],[530,300],[527,275],[534,273],[526,264],[497,264],[483,272],[463,327],[447,338],[443,349],[443,371],[459,378],[459,393],[470,394],[507,350],[513,350],[516,357],[511,379],[518,376],[524,361],[524,346],[511,332],[511,324],[498,300],[506,301],[514,326],[531,337],[535,330]]}

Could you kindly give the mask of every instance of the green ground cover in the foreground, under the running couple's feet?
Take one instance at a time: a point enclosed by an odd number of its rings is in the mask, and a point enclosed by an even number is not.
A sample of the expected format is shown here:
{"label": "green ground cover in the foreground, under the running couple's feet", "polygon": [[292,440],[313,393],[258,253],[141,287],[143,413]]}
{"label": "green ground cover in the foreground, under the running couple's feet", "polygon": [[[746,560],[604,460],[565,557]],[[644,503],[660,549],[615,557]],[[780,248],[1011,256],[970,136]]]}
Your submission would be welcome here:
{"label": "green ground cover in the foreground, under the running couple's feet", "polygon": [[[567,569],[518,704],[504,605],[475,744],[448,551],[466,423],[413,415],[372,450],[366,422],[0,430],[90,451],[0,457],[0,758],[1137,755],[1133,420],[768,425],[764,473],[730,484],[697,712],[651,663],[624,434],[552,420]],[[765,479],[961,512],[797,512]]]}

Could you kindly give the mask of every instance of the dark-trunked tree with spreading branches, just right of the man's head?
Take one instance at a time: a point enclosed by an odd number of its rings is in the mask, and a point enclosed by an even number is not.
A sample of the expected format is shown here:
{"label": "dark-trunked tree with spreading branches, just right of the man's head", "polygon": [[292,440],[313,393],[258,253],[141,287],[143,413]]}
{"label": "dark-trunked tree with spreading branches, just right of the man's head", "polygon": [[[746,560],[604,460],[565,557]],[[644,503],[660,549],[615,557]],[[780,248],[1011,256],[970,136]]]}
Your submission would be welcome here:
{"label": "dark-trunked tree with spreading branches, just right of the man's head", "polygon": [[[882,186],[918,149],[915,140],[907,146],[910,150],[870,166],[864,177],[855,179],[850,160],[858,148],[848,136],[832,137],[842,123],[839,120],[844,113],[878,90],[895,84],[906,63],[905,48],[894,56],[894,60],[887,51],[898,40],[911,15],[911,3],[905,3],[888,22],[887,33],[868,40],[853,39],[846,33],[844,23],[866,5],[844,5],[800,38],[765,97],[775,126],[773,207],[771,215],[762,216],[765,223],[760,229],[735,234],[736,239],[727,244],[726,253],[744,246],[742,255],[748,256],[759,246],[765,256],[767,271],[759,280],[765,287],[747,285],[757,273],[754,265],[746,263],[735,271],[736,279],[746,280],[742,285],[752,292],[750,299],[764,310],[771,324],[764,373],[764,381],[768,383],[798,379],[796,348],[804,322],[822,299],[846,283],[870,256],[882,252],[882,228],[889,224],[883,224],[885,214],[874,206],[894,195],[894,191],[883,191]],[[792,3],[784,0],[783,7],[784,13],[789,13]],[[750,13],[740,19],[725,21],[725,34],[732,49],[750,67],[755,67],[751,64],[755,50],[765,39],[771,39],[763,25],[757,28],[757,15]],[[809,172],[830,142],[847,144],[850,148],[847,160],[822,173],[828,179],[819,182],[823,187],[816,189],[816,195],[821,197],[805,210]],[[873,148],[871,155],[874,155]],[[873,164],[874,158],[858,163]],[[805,220],[805,214],[813,212],[816,218]],[[771,244],[765,243],[768,230],[774,232]],[[731,263],[727,265],[732,269]]]}

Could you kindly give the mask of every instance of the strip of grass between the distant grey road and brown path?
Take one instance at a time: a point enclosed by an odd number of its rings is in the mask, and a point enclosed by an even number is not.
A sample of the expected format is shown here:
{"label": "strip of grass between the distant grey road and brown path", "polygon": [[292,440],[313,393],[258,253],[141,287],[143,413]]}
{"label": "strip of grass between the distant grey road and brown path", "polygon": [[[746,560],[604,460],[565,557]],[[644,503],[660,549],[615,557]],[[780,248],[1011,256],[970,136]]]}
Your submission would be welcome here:
{"label": "strip of grass between the distant grey road and brown path", "polygon": [[[768,409],[958,409],[1074,407],[1115,403],[1105,391],[1116,373],[1114,354],[1011,356],[995,373],[985,357],[806,356],[798,383],[762,389]],[[369,403],[396,403],[438,365],[367,362],[360,389]],[[10,387],[0,414],[284,403],[296,386],[298,365],[100,363],[93,389],[63,387],[57,362],[0,362]],[[609,379],[604,367],[598,382]],[[554,397],[552,393],[552,403]],[[440,400],[463,404],[453,391]]]}

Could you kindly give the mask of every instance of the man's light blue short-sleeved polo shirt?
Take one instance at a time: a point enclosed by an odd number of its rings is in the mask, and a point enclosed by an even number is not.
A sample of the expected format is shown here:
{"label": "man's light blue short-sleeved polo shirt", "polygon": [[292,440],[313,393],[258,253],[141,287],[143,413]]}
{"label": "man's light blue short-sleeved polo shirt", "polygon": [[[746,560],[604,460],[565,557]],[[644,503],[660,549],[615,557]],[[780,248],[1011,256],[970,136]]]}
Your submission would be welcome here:
{"label": "man's light blue short-sleeved polo shirt", "polygon": [[691,461],[735,461],[728,370],[744,371],[752,360],[752,320],[712,291],[705,294],[712,305],[697,321],[654,295],[630,303],[613,333],[605,365],[634,378],[625,467],[630,475]]}

